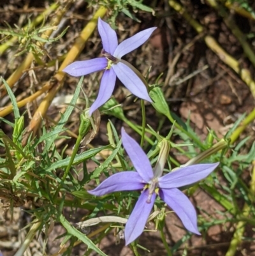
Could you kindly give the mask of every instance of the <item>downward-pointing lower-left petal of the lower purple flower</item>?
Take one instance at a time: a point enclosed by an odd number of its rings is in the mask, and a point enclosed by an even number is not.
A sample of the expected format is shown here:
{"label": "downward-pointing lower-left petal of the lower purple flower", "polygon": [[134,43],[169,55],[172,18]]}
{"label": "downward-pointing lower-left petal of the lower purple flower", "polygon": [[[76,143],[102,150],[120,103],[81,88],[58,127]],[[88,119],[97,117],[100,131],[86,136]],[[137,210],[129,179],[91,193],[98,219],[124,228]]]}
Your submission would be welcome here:
{"label": "downward-pointing lower-left petal of the lower purple flower", "polygon": [[129,216],[128,222],[125,227],[125,240],[126,245],[133,242],[140,234],[142,234],[145,224],[150,215],[150,211],[154,205],[156,199],[156,193],[152,194],[150,203],[147,203],[149,196],[149,190],[143,190],[138,201],[136,202],[135,208]]}

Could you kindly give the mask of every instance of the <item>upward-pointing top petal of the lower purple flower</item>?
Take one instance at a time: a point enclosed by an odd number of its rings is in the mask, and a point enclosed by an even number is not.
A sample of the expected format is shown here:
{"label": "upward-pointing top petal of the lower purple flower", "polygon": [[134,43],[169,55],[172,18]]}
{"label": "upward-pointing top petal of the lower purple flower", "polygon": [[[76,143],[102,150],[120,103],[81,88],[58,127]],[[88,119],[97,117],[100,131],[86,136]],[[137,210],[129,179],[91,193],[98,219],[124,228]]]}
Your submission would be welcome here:
{"label": "upward-pointing top petal of the lower purple flower", "polygon": [[126,149],[130,160],[132,161],[136,172],[142,177],[144,181],[149,183],[153,178],[153,171],[150,165],[150,161],[147,155],[143,152],[143,149],[139,144],[131,138],[128,133],[125,132],[124,128],[121,128],[122,144]]}

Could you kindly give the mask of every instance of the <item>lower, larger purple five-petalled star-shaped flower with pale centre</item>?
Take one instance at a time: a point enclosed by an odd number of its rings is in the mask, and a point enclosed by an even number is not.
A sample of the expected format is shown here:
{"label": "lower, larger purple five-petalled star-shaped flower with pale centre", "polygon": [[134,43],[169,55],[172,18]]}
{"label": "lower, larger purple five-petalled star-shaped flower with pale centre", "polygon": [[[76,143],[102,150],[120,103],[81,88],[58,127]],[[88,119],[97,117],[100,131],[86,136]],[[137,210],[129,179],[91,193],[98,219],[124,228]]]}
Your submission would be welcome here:
{"label": "lower, larger purple five-petalled star-shaped flower with pale centre", "polygon": [[161,177],[169,149],[165,150],[165,148],[160,151],[159,158],[164,158],[164,160],[159,159],[153,171],[142,148],[134,139],[129,137],[124,128],[122,128],[122,143],[133,162],[136,172],[124,171],[113,174],[99,184],[97,188],[90,190],[89,193],[100,196],[124,190],[143,190],[126,223],[126,245],[142,234],[156,195],[159,195],[175,211],[187,230],[200,234],[197,226],[196,210],[186,195],[180,192],[178,188],[196,183],[207,177],[219,163],[203,163],[182,167]]}

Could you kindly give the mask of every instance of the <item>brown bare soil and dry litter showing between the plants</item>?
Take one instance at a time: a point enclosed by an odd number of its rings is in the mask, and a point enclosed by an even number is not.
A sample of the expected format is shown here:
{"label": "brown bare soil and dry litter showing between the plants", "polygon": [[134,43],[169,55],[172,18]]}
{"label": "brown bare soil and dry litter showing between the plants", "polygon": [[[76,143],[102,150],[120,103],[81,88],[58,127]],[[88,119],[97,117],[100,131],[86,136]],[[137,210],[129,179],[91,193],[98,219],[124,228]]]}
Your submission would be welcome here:
{"label": "brown bare soil and dry litter showing between the plants", "polygon": [[[143,29],[152,26],[157,27],[147,43],[130,54],[127,54],[124,59],[136,66],[143,75],[146,75],[150,66],[152,66],[149,74],[150,84],[154,84],[157,77],[163,73],[159,82],[163,84],[166,100],[171,110],[184,121],[189,118],[195,132],[200,135],[201,140],[207,137],[207,128],[214,130],[220,138],[224,137],[228,129],[237,121],[238,117],[254,109],[254,98],[249,87],[240,79],[237,73],[226,66],[226,64],[222,63],[219,57],[207,47],[203,41],[203,37],[198,36],[190,24],[184,20],[179,13],[176,13],[170,8],[167,1],[153,2],[153,4],[155,4],[155,15],[146,13],[145,11],[137,11],[135,13],[135,16],[141,20],[140,23],[129,19],[124,13],[118,15],[114,25],[117,28],[116,31],[119,36],[119,41]],[[0,27],[6,27],[4,22],[8,22],[11,27],[13,27],[14,24],[24,26],[24,24],[27,23],[28,17],[29,19],[34,19],[38,13],[45,10],[45,6],[48,6],[48,4],[48,1],[2,0],[0,1]],[[150,1],[145,1],[144,4],[150,5]],[[204,3],[204,1],[183,0],[182,4],[186,6],[186,10],[189,11],[189,13],[192,13],[194,19],[198,20],[206,27],[206,33],[214,36],[221,47],[231,56],[235,57],[235,59],[238,59],[240,66],[247,68],[251,72],[252,78],[255,79],[254,66],[252,66],[247,56],[245,56],[237,38],[233,36],[217,11],[211,8],[207,3]],[[253,10],[255,10],[254,1],[250,1],[250,4]],[[58,43],[54,43],[47,48],[47,52],[52,59],[64,54],[69,47],[71,47],[73,40],[85,26],[92,13],[94,13],[94,10],[94,6],[88,6],[85,1],[76,1],[73,4],[73,9],[69,11],[65,17],[64,26],[70,26],[68,32]],[[110,13],[111,11],[108,11],[108,15],[110,15]],[[106,19],[108,15],[106,15]],[[235,13],[232,13],[232,15],[243,33],[253,34],[253,37],[251,36],[251,38],[249,38],[249,43],[251,43],[254,49],[255,21],[246,19]],[[22,55],[13,60],[13,54],[17,53],[17,51],[17,45],[10,47],[10,49],[0,57],[0,75],[4,78],[7,78],[24,58]],[[101,40],[96,30],[86,43],[78,60],[98,57],[100,51]],[[40,84],[48,80],[54,72],[55,67],[41,68],[40,72],[36,71],[38,84],[34,87],[40,87]],[[96,75],[92,74],[85,77],[84,89],[86,93],[93,94],[92,86],[100,79],[100,76],[101,74],[97,73]],[[77,81],[77,78],[68,76],[64,87],[62,87],[59,92],[59,96],[72,94],[77,85]],[[16,86],[15,95],[19,97],[22,93],[29,93],[30,86],[31,77],[29,75],[22,76],[22,79],[18,81],[18,85]],[[113,94],[115,98],[117,98],[117,101],[122,104],[126,116],[135,123],[140,124],[142,120],[139,103],[134,103],[132,97],[126,98],[129,92],[119,81],[117,81],[117,86]],[[1,99],[0,107],[4,107],[3,101],[4,98]],[[40,102],[40,98],[38,102]],[[30,107],[30,109],[33,113],[33,107]],[[159,120],[163,117],[157,114],[149,104],[146,106],[146,109],[147,123],[153,128],[156,128],[159,124]],[[55,106],[50,107],[48,110],[48,114],[53,117],[56,112],[59,112],[59,109]],[[10,120],[13,119],[12,114],[7,118]],[[28,123],[29,117],[27,118],[26,122]],[[78,114],[73,118],[72,125],[75,125],[75,122],[78,121]],[[120,127],[123,125],[122,121],[115,117],[110,118],[113,124],[120,130]],[[109,116],[102,116],[99,134],[92,142],[94,146],[108,144],[106,137],[106,122],[108,119]],[[247,130],[242,133],[240,139],[247,135],[254,138],[254,125],[255,124],[249,125]],[[6,124],[1,124],[1,128],[8,133],[9,128]],[[161,133],[163,135],[168,133],[170,128],[170,123],[164,121]],[[131,136],[137,136],[135,133],[132,134],[132,130],[128,127],[126,127],[126,129]],[[178,137],[176,137],[176,141],[178,141]],[[251,143],[252,139],[249,140],[245,149],[249,150]],[[68,150],[71,150],[72,146],[73,144],[70,142],[66,154],[69,153]],[[176,157],[183,163],[187,160],[183,156]],[[88,165],[88,169],[94,170],[94,168],[93,163]],[[207,212],[208,215],[221,219],[219,211],[224,211],[224,209],[217,204],[210,195],[203,192],[203,190],[197,190],[191,200],[195,206],[199,207],[196,208],[198,209],[198,213],[203,215],[204,212]],[[18,241],[21,239],[20,236],[22,236],[20,234],[22,233],[20,231],[20,225],[25,226],[25,223],[31,221],[29,220],[29,216],[23,211],[20,211],[25,207],[27,206],[15,209],[15,216],[12,222],[8,209],[4,208],[1,213],[3,222],[0,222],[0,224],[3,231],[1,232],[0,229],[0,249],[4,256],[14,255],[19,246]],[[201,211],[201,209],[203,209],[203,211]],[[68,212],[72,210],[66,209],[66,211],[66,215],[68,215]],[[80,221],[84,214],[85,211],[80,210],[76,213],[72,213],[73,222]],[[153,229],[153,227],[154,224],[150,223],[148,228]],[[179,218],[173,213],[167,216],[164,229],[167,242],[170,246],[173,246],[186,234]],[[185,255],[225,255],[234,231],[234,226],[231,223],[214,225],[214,227],[208,230],[206,236],[193,236],[188,240],[186,246],[182,246],[182,250],[175,252],[174,255],[184,255],[182,254],[184,247],[187,249],[187,254]],[[62,232],[64,232],[64,230],[56,224],[48,239],[48,255],[52,255],[59,250],[60,240],[55,240],[55,238],[61,235]],[[245,236],[254,237],[252,227],[247,227]],[[29,246],[31,255],[41,255],[40,239],[42,239],[42,237],[42,234],[36,237],[34,244]],[[145,246],[149,250],[149,252],[140,250],[141,255],[166,255],[159,232],[144,232],[140,237],[140,245]],[[115,236],[113,233],[110,233],[101,241],[99,248],[109,256],[133,255],[133,252],[128,247],[124,246],[123,240],[120,241],[119,245],[115,244]],[[85,250],[85,245],[76,246],[71,255],[84,255]],[[91,255],[94,256],[96,253],[91,253]],[[236,256],[244,255],[255,255],[254,241],[247,241],[240,246]]]}

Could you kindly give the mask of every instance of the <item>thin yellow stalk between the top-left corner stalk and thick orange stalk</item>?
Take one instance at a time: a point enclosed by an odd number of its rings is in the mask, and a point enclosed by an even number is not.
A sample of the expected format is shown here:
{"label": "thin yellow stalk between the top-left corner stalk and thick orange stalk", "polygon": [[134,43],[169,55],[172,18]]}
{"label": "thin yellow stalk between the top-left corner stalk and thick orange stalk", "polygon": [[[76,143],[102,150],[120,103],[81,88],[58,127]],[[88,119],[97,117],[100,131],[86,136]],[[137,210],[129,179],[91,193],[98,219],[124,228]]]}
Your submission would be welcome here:
{"label": "thin yellow stalk between the top-left corner stalk and thick orange stalk", "polygon": [[[61,8],[60,10],[57,11],[54,19],[51,22],[51,26],[57,26],[59,24],[59,22],[61,22],[61,19],[62,19],[64,13],[66,13],[66,11],[68,10],[71,3],[72,3],[72,1],[68,1],[68,3],[63,8]],[[47,31],[45,31],[45,33],[43,33],[41,35],[41,38],[48,39],[53,31],[54,31],[53,29],[48,29]],[[37,45],[40,47],[43,46],[44,44],[45,43],[42,43],[42,42],[37,43]],[[10,77],[6,80],[7,84],[10,87],[13,87],[14,84],[18,81],[18,79],[20,79],[23,72],[30,67],[33,59],[34,59],[33,53],[29,52],[29,54],[27,54],[27,57],[25,57],[24,61],[22,61],[22,63],[18,66],[17,70],[15,70],[15,72],[13,72],[10,75]],[[0,90],[3,90],[3,92],[1,93],[1,96],[4,96],[4,94],[6,94],[4,85],[2,85],[0,87]]]}

